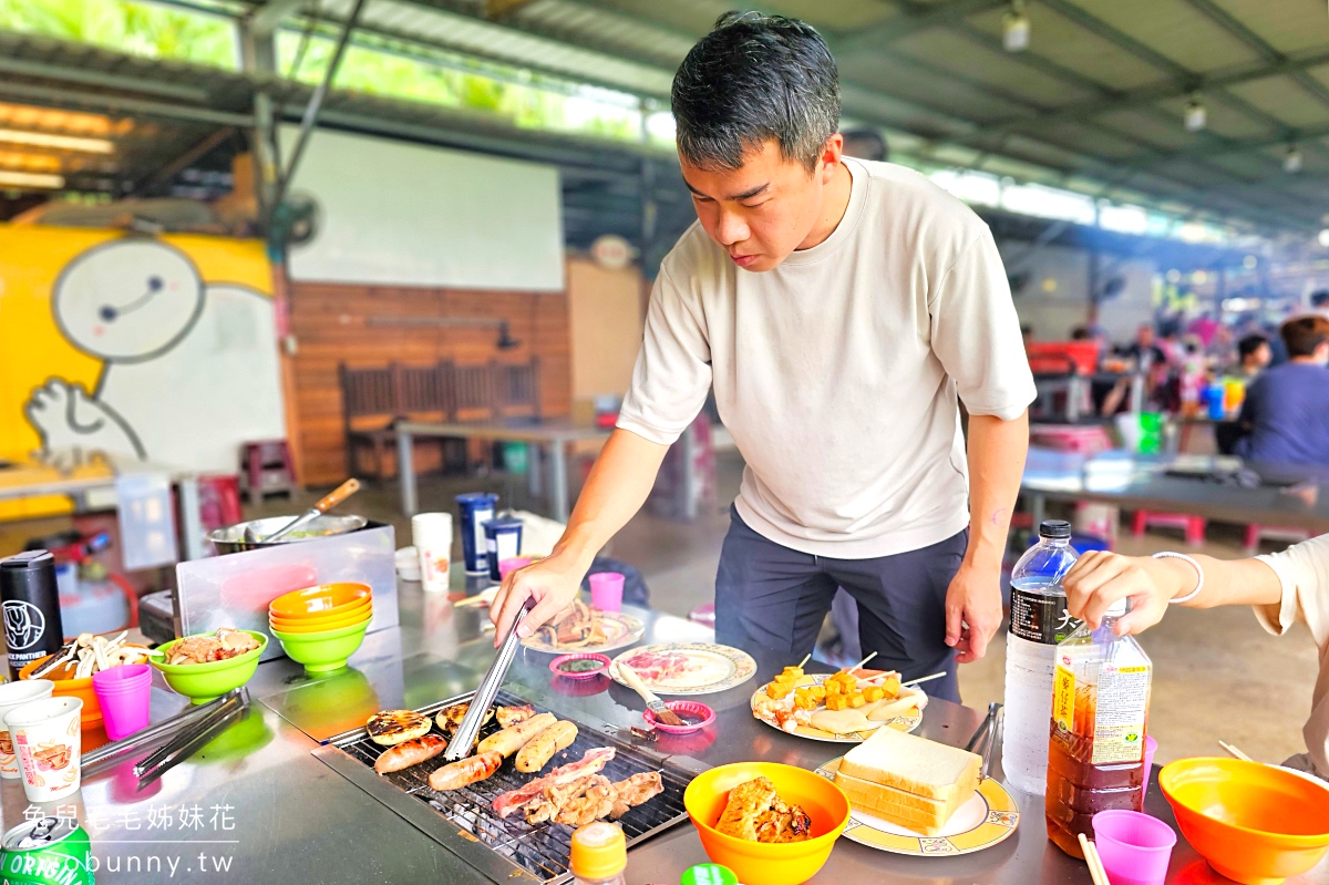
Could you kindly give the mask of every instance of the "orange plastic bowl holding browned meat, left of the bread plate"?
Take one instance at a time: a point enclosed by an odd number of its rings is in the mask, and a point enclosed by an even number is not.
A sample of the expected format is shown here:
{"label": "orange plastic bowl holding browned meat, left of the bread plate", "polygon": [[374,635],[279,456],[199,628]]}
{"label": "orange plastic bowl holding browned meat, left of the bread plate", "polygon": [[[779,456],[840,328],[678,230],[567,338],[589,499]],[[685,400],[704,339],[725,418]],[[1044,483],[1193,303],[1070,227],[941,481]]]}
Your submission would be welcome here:
{"label": "orange plastic bowl holding browned meat, left of the bread plate", "polygon": [[[801,805],[812,819],[812,838],[767,845],[716,832],[730,791],[754,777],[769,777],[780,799]],[[799,885],[817,874],[835,840],[849,823],[849,800],[833,783],[780,763],[735,763],[698,775],[683,792],[683,805],[702,837],[706,856],[734,870],[740,882]]]}

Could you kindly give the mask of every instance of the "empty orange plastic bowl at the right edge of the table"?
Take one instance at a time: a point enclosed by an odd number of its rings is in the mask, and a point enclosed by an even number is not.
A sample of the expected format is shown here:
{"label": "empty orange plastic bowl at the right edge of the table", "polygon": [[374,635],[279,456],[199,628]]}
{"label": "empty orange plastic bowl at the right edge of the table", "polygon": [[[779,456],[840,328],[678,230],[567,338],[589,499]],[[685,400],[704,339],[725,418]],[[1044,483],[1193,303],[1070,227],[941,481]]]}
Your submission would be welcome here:
{"label": "empty orange plastic bowl at the right edge of the table", "polygon": [[1329,850],[1329,788],[1240,759],[1183,759],[1159,772],[1181,835],[1215,872],[1276,885]]}

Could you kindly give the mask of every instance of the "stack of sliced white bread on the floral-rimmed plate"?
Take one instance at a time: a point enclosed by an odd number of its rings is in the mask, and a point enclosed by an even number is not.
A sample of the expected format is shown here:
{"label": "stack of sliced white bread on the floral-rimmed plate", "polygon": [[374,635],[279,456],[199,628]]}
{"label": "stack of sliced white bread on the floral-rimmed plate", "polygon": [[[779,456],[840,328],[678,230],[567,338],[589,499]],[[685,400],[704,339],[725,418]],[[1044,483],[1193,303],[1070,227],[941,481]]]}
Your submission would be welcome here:
{"label": "stack of sliced white bread on the floral-rimmed plate", "polygon": [[914,738],[894,728],[878,728],[840,763],[840,771],[882,787],[948,801],[973,791],[982,756]]}

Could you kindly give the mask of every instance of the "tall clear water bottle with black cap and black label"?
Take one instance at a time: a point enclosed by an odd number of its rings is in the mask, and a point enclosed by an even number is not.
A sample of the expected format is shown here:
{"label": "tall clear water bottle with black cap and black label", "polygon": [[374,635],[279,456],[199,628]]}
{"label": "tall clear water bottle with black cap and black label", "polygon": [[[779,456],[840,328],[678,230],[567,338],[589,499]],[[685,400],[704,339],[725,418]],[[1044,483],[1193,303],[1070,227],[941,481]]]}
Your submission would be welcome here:
{"label": "tall clear water bottle with black cap and black label", "polygon": [[1047,785],[1047,720],[1053,711],[1057,643],[1079,621],[1066,611],[1062,577],[1075,563],[1071,525],[1047,520],[1038,543],[1010,574],[1010,631],[1006,635],[1006,731],[1001,765],[1015,789],[1041,796]]}

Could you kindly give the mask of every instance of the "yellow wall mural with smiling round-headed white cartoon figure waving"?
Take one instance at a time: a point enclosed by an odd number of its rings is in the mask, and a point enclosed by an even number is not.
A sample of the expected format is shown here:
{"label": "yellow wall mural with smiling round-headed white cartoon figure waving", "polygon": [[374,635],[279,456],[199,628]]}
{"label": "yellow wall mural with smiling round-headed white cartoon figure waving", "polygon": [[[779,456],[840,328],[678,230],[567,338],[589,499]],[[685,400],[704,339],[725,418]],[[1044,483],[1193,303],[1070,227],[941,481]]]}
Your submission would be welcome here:
{"label": "yellow wall mural with smiling round-headed white cartoon figure waving", "polygon": [[0,225],[0,457],[234,473],[286,436],[260,242]]}

